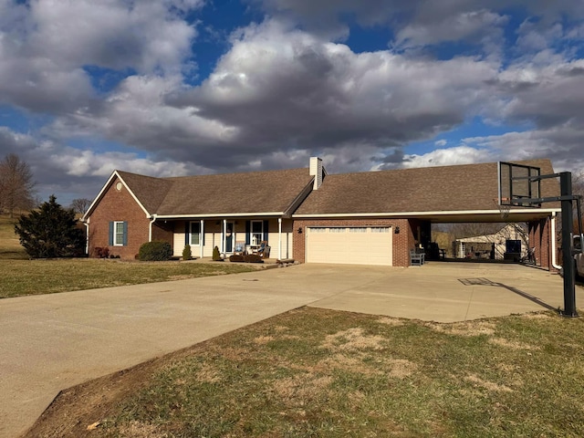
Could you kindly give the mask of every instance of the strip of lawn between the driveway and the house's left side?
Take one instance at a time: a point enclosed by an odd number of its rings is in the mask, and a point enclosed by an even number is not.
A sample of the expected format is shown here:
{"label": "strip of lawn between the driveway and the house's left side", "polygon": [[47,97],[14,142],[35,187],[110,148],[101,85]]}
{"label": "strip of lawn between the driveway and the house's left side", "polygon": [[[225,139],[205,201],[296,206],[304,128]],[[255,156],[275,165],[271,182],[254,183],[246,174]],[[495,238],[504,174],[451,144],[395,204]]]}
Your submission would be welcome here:
{"label": "strip of lawn between the driveway and the house's left side", "polygon": [[249,266],[211,263],[124,262],[110,259],[0,259],[0,298],[52,294],[97,287],[215,276],[252,271]]}

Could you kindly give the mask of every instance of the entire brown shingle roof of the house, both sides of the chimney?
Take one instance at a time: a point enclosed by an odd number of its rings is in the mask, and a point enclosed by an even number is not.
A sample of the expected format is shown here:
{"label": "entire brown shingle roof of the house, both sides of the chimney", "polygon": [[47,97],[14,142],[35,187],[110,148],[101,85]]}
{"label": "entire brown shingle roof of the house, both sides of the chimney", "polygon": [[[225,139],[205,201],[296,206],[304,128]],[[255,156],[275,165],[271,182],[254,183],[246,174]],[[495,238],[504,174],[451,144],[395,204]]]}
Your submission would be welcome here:
{"label": "entire brown shingle roof of the house, both sides of the chimney", "polygon": [[[549,160],[517,162],[553,173]],[[287,213],[313,181],[308,169],[153,178],[118,172],[150,214]],[[556,179],[542,195],[559,194]],[[328,174],[295,213],[400,214],[497,210],[497,163]],[[546,207],[558,207],[548,203]]]}

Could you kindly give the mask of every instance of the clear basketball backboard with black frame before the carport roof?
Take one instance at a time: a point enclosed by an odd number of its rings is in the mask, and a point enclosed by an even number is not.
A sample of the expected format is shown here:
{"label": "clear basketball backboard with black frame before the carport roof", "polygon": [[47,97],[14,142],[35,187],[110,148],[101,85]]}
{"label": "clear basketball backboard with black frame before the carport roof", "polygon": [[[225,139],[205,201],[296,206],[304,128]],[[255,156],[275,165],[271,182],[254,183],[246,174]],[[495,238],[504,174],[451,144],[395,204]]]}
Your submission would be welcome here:
{"label": "clear basketball backboard with black frame before the carport roof", "polygon": [[540,180],[533,179],[541,175],[538,167],[499,162],[499,205],[521,207],[540,207],[541,203],[532,200],[540,197]]}

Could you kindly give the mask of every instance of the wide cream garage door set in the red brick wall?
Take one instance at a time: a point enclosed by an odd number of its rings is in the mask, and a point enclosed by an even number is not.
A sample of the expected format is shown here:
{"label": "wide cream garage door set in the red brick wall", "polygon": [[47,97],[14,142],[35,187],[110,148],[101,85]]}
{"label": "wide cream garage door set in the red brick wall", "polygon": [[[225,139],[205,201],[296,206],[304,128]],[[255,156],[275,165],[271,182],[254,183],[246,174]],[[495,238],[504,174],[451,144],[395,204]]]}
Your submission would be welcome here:
{"label": "wide cream garage door set in the red brick wall", "polygon": [[389,226],[308,227],[307,263],[391,266]]}

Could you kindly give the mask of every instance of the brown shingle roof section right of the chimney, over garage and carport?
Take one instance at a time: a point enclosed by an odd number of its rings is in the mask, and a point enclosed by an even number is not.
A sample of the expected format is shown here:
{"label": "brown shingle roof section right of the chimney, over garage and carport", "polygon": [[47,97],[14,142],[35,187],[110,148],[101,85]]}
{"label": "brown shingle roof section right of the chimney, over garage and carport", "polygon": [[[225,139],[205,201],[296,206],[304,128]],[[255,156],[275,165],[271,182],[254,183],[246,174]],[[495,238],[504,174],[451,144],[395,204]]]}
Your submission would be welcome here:
{"label": "brown shingle roof section right of the chimney, over garage and carport", "polygon": [[[542,174],[553,173],[549,160],[517,163],[538,166]],[[310,193],[296,214],[493,210],[498,208],[497,187],[496,162],[328,174],[320,189]],[[542,193],[558,194],[557,180],[543,180]]]}

